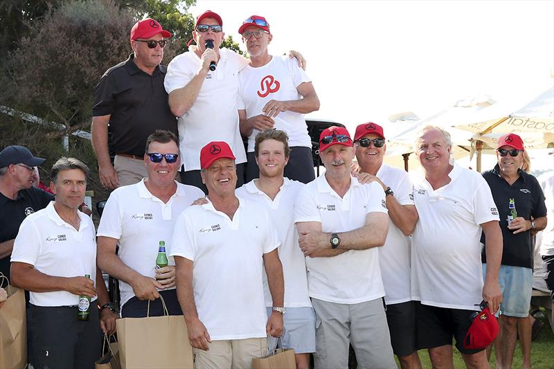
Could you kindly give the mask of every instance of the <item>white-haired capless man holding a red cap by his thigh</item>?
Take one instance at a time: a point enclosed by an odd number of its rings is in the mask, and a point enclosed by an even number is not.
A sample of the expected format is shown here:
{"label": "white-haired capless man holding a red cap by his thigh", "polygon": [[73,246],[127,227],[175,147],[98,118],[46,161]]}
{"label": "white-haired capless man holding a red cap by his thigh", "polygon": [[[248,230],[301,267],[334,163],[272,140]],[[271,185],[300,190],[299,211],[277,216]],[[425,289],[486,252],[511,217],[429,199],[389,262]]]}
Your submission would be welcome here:
{"label": "white-haired capless man holding a red cap by his thigh", "polygon": [[[422,175],[413,186],[419,222],[411,254],[417,343],[429,349],[434,368],[452,368],[454,337],[468,368],[488,368],[484,348],[466,349],[463,341],[481,300],[494,313],[502,299],[498,210],[481,174],[451,163],[448,132],[426,126],[416,137],[415,153],[422,165]],[[481,231],[488,241],[484,284]]]}

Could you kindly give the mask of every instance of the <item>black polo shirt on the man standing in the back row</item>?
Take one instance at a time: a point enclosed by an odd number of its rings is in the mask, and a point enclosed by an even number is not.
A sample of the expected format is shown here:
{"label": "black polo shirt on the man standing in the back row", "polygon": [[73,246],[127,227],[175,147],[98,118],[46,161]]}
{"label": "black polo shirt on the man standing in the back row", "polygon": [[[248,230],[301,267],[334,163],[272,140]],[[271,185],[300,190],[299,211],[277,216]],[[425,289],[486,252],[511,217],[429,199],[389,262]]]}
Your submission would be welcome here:
{"label": "black polo shirt on the man standing in the back row", "polygon": [[93,116],[109,115],[111,141],[116,154],[144,155],[146,138],[156,129],[177,134],[177,118],[163,87],[166,66],[152,75],[141,71],[131,54],[102,75],[94,90]]}

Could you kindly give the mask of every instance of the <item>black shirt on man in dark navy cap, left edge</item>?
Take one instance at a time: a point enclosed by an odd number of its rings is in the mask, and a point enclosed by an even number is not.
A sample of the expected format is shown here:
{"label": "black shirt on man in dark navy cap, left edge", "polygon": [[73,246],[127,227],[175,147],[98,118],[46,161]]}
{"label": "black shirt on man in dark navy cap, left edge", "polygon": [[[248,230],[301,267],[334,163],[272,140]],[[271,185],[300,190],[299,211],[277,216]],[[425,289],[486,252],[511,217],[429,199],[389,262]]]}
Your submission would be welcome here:
{"label": "black shirt on man in dark navy cap, left edge", "polygon": [[[31,187],[20,190],[15,200],[0,192],[0,242],[13,240],[19,232],[19,226],[25,217],[35,211],[46,208],[54,195]],[[10,256],[0,259],[0,272],[10,277]]]}

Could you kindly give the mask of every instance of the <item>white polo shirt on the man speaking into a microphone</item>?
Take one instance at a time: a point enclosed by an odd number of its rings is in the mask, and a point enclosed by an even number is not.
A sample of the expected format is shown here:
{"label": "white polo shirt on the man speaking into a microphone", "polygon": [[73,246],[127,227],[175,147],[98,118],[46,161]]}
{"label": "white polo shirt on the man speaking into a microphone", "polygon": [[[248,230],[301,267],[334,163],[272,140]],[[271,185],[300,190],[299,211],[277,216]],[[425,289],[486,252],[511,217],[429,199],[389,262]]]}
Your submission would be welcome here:
{"label": "white polo shirt on the man speaking into a microphone", "polygon": [[[208,142],[229,144],[236,163],[247,161],[238,126],[238,72],[248,60],[227,48],[220,48],[217,69],[209,71],[190,109],[179,117],[179,151],[185,170],[200,169],[200,150]],[[177,55],[168,65],[163,82],[166,91],[185,87],[197,74],[202,60],[187,51]]]}

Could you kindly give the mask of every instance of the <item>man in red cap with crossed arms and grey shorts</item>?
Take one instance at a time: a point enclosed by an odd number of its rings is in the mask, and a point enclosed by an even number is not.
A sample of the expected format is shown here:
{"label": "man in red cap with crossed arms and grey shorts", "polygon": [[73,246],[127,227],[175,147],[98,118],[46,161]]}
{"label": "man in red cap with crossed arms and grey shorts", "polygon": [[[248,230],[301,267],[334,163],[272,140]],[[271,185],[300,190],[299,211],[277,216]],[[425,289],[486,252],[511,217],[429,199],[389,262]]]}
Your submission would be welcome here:
{"label": "man in red cap with crossed arms and grey shorts", "polygon": [[298,192],[294,212],[317,316],[315,367],[346,368],[352,344],[360,368],[396,368],[377,249],[388,231],[385,194],[350,174],[346,128],[324,129],[319,149],[325,174]]}

